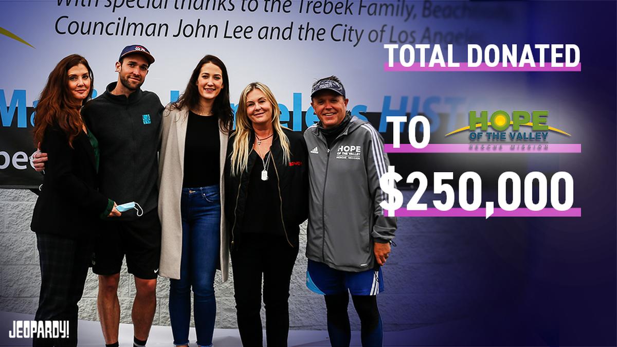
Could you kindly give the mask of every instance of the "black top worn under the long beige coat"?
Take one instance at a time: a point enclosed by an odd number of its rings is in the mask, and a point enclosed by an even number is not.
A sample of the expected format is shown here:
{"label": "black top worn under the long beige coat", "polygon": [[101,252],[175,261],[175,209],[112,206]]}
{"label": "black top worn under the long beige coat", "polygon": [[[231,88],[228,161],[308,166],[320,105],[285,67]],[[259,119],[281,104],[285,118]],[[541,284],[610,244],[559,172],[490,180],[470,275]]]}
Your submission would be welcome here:
{"label": "black top worn under the long beige coat", "polygon": [[182,188],[199,188],[220,183],[220,139],[218,118],[189,111],[184,141]]}

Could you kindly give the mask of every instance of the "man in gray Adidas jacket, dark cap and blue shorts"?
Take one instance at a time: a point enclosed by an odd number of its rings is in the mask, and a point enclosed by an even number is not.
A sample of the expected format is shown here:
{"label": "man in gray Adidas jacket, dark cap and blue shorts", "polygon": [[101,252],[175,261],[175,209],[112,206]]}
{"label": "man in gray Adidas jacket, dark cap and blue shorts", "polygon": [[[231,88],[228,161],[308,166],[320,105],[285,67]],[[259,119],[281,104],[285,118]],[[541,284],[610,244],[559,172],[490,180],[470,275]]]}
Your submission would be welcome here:
{"label": "man in gray Adidas jacket, dark cap and blue shorts", "polygon": [[383,345],[376,295],[390,253],[396,219],[385,217],[379,187],[388,165],[381,135],[347,112],[345,88],[335,77],[313,83],[311,106],[320,122],[304,138],[309,149],[307,286],[324,295],[332,346],[349,346],[349,293],[362,324],[362,345]]}

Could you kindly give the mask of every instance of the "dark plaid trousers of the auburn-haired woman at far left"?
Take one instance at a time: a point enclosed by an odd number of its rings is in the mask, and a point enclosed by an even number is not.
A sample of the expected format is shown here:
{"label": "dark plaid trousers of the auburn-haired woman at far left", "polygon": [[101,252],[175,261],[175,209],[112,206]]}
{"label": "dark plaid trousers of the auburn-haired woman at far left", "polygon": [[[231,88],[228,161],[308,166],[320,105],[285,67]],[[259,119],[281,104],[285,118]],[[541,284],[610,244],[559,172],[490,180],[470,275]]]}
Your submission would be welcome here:
{"label": "dark plaid trousers of the auburn-haired woman at far left", "polygon": [[34,338],[34,347],[77,346],[77,303],[92,259],[91,240],[37,233],[41,294],[36,320],[68,320],[67,338]]}

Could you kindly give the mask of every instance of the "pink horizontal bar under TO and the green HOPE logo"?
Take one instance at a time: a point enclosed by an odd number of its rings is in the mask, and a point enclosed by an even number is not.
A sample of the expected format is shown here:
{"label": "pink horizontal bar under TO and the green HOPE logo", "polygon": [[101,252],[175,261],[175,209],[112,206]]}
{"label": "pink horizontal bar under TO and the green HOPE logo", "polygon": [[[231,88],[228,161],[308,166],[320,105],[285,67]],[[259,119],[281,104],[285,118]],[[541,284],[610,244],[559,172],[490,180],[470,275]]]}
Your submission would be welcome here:
{"label": "pink horizontal bar under TO and the green HOPE logo", "polygon": [[[482,144],[485,146],[484,149],[481,148]],[[514,149],[510,149],[511,144],[478,143],[479,147],[476,148],[476,144],[433,143],[427,144],[424,148],[414,148],[411,144],[402,143],[400,148],[394,148],[393,144],[386,143],[384,144],[384,151],[386,153],[581,153],[580,143],[549,143],[547,144],[549,147],[546,149],[544,148],[544,143],[520,143],[515,144]],[[527,146],[529,144],[532,146],[542,146],[542,148],[528,149]],[[502,146],[501,149],[499,149],[500,145]],[[497,146],[497,148],[493,149],[493,146]],[[520,146],[524,146],[524,149],[521,149]]]}

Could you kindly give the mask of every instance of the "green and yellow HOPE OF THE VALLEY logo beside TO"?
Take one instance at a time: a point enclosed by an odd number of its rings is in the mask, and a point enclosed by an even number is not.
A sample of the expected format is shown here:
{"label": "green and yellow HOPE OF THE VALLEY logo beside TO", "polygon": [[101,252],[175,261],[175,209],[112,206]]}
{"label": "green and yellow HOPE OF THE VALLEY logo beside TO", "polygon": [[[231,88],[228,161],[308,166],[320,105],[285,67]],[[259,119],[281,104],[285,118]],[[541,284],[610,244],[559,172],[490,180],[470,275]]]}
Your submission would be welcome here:
{"label": "green and yellow HOPE OF THE VALLEY logo beside TO", "polygon": [[470,111],[469,126],[445,136],[468,131],[470,150],[548,150],[552,132],[560,136],[571,136],[547,125],[548,115],[549,111],[532,111],[531,114],[527,111],[513,111],[510,117],[508,112],[499,110],[489,117],[488,111],[481,111],[479,115],[476,111]]}

